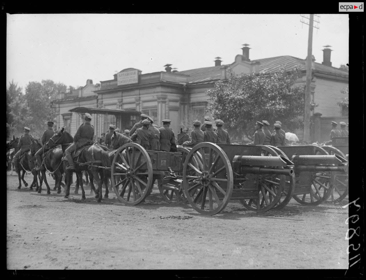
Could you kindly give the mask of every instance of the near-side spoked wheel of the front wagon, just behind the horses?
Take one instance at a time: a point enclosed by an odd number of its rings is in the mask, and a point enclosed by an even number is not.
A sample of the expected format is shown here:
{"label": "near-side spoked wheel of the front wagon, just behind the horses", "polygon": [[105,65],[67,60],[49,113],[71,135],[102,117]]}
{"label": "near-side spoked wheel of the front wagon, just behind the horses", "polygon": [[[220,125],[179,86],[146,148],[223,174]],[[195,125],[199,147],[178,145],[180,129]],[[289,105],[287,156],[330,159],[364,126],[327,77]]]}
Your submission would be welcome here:
{"label": "near-side spoked wheel of the front wagon, just behind the horses", "polygon": [[[121,179],[118,183],[117,176]],[[153,167],[141,145],[127,143],[117,150],[112,161],[111,183],[124,204],[137,205],[147,197],[153,183]]]}

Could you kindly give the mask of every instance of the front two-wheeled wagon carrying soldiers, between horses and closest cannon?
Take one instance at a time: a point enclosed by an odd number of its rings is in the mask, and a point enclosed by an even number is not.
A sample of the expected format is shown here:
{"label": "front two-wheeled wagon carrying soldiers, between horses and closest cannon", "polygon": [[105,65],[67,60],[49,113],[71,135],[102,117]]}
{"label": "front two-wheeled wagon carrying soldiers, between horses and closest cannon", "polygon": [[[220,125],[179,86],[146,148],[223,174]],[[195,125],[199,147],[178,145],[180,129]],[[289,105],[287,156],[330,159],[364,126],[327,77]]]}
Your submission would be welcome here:
{"label": "front two-wheeled wagon carrying soldiers, between horses and closest cannon", "polygon": [[119,199],[127,205],[137,205],[151,193],[157,180],[163,198],[168,202],[184,201],[182,158],[188,149],[179,153],[145,150],[137,143],[120,147],[113,158],[111,183]]}

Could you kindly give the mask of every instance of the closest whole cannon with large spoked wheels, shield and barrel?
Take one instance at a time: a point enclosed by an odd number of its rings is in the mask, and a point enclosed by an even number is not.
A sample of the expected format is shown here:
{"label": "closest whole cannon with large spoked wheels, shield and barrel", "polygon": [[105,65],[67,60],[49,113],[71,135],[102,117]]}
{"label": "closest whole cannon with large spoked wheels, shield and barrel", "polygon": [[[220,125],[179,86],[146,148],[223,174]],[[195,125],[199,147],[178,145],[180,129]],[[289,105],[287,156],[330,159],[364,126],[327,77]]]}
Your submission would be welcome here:
{"label": "closest whole cannon with large spoked wheels, shield and barrel", "polygon": [[[261,156],[264,152],[270,156]],[[202,214],[217,214],[230,200],[264,212],[279,202],[293,165],[267,146],[199,143],[184,161],[184,193]]]}

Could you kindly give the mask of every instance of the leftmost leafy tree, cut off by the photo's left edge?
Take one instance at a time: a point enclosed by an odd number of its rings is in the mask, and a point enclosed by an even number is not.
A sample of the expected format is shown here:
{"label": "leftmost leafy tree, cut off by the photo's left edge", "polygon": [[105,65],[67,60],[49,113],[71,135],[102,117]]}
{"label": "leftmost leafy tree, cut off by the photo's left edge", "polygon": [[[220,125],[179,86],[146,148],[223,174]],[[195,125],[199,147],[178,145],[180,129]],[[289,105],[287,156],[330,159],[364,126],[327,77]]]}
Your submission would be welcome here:
{"label": "leftmost leafy tree, cut off by the photo's left edge", "polygon": [[17,83],[11,81],[6,89],[6,133],[7,138],[19,135],[26,126],[28,118],[28,108],[22,88]]}

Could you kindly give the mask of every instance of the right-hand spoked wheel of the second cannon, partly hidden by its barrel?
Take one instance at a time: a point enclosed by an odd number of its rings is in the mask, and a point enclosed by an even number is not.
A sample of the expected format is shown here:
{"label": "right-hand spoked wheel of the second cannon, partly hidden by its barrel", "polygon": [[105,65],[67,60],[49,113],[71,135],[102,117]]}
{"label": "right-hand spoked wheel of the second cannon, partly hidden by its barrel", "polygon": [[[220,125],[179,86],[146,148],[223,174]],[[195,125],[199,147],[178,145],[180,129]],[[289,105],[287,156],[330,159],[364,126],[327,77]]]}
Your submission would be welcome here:
{"label": "right-hand spoked wheel of the second cannon, partly hidden by its barrel", "polygon": [[[314,147],[314,155],[329,155],[326,150],[319,146],[307,145]],[[320,171],[309,173],[311,186],[309,193],[294,195],[293,198],[303,205],[319,205],[326,201],[333,192],[335,182],[335,172]]]}

